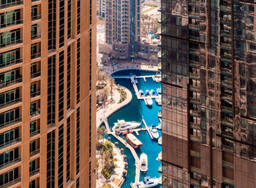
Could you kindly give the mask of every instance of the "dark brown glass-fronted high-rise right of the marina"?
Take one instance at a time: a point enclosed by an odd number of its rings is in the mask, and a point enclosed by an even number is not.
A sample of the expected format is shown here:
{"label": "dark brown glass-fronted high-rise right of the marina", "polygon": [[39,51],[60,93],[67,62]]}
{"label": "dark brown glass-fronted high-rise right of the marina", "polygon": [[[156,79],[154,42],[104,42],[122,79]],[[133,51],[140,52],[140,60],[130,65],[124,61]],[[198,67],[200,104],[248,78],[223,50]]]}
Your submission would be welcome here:
{"label": "dark brown glass-fronted high-rise right of the marina", "polygon": [[163,187],[256,187],[255,10],[162,0]]}

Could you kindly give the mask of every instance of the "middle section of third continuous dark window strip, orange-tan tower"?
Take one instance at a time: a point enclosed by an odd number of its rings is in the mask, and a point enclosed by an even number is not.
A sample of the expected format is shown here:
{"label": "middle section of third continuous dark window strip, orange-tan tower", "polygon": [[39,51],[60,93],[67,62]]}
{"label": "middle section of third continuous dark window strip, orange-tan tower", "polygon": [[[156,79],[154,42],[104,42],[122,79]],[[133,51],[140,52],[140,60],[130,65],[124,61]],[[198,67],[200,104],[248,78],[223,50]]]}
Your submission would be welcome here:
{"label": "middle section of third continuous dark window strip, orange-tan tower", "polygon": [[71,95],[71,46],[67,47],[67,110],[70,109]]}

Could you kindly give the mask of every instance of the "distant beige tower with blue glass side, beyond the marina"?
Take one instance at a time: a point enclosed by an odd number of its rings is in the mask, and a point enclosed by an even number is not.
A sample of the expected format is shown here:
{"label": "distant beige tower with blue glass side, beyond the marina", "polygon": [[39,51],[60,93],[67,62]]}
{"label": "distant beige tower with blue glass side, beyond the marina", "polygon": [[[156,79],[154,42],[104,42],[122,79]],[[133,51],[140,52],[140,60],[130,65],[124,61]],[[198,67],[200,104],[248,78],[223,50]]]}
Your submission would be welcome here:
{"label": "distant beige tower with blue glass side, beyond the marina", "polygon": [[113,57],[134,58],[135,42],[140,42],[140,0],[105,0],[105,42]]}

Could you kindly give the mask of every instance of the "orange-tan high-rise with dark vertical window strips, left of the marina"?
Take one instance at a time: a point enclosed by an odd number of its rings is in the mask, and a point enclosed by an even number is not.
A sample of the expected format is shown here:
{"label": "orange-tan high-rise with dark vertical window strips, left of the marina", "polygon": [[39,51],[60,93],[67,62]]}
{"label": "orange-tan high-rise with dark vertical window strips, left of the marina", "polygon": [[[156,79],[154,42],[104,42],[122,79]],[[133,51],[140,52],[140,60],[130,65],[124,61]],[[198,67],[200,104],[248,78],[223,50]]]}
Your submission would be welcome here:
{"label": "orange-tan high-rise with dark vertical window strips, left of the marina", "polygon": [[0,187],[95,187],[94,15],[0,1]]}

